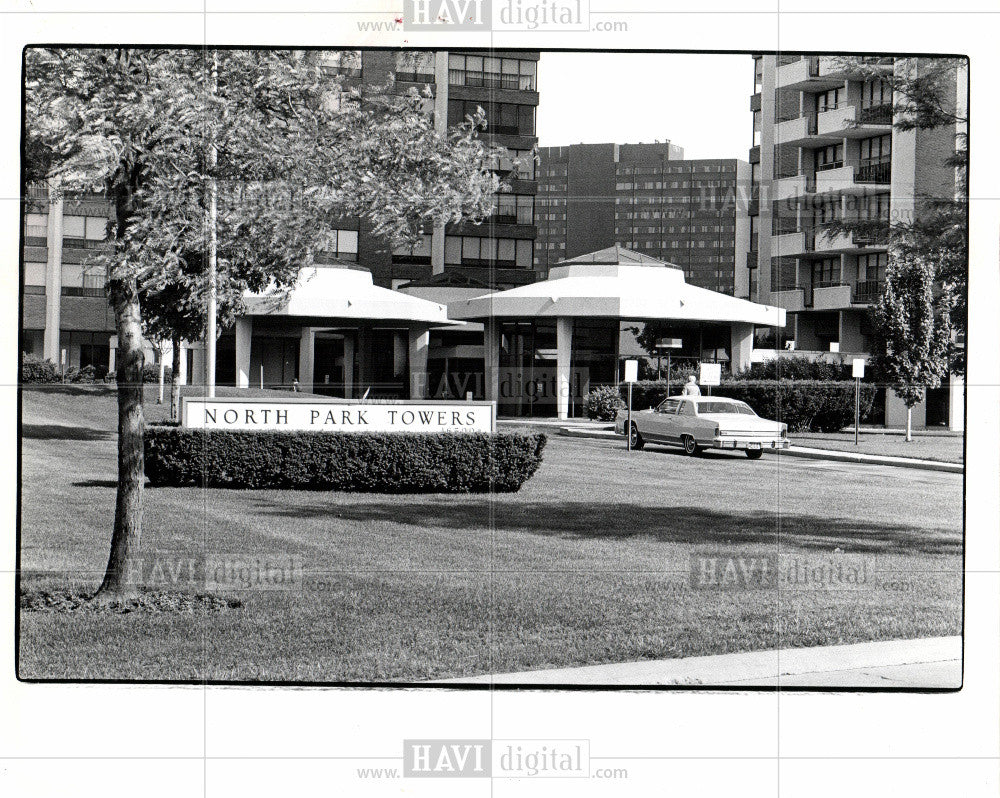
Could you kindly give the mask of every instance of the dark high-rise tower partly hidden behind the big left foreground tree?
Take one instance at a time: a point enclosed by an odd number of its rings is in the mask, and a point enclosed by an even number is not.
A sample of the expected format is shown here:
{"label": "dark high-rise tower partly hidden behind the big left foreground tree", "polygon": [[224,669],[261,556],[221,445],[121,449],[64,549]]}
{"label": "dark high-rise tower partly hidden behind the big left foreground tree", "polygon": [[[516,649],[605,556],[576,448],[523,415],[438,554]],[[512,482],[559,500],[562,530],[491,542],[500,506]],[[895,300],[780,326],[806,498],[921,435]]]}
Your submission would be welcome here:
{"label": "dark high-rise tower partly hidden behind the big left foreground tree", "polygon": [[[338,50],[318,58],[331,80],[340,80],[345,88],[384,86],[392,80],[400,92],[429,89],[427,110],[442,132],[482,107],[488,123],[484,137],[506,147],[512,158],[494,165],[507,190],[482,224],[440,226],[427,230],[415,246],[394,250],[363,220],[344,219],[331,249],[317,256],[317,265],[358,264],[371,272],[374,285],[384,288],[459,279],[492,289],[534,281],[538,52]],[[94,366],[99,375],[114,368],[117,341],[104,274],[88,265],[106,238],[110,218],[110,205],[100,195],[29,189],[23,252],[25,352],[67,369]],[[256,357],[287,361],[287,367],[272,369],[273,384],[290,385],[297,377],[298,357],[289,353],[297,339],[259,338],[258,344],[281,350],[280,357],[271,351]],[[197,375],[200,344],[186,348],[182,367]],[[230,330],[219,341],[220,383],[236,379],[230,357],[234,350],[235,332]],[[153,359],[157,355],[148,352]]]}

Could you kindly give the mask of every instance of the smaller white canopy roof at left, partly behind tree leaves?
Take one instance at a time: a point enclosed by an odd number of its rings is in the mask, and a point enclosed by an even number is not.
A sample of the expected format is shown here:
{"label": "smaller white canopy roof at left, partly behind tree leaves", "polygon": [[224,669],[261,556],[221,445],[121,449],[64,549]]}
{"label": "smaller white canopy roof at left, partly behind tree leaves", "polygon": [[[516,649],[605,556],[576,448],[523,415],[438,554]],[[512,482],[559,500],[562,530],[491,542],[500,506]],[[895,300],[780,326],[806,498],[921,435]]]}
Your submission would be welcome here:
{"label": "smaller white canopy roof at left, partly behind tree leaves", "polygon": [[250,294],[245,302],[248,316],[455,324],[444,304],[377,286],[371,272],[357,267],[304,268],[290,291]]}

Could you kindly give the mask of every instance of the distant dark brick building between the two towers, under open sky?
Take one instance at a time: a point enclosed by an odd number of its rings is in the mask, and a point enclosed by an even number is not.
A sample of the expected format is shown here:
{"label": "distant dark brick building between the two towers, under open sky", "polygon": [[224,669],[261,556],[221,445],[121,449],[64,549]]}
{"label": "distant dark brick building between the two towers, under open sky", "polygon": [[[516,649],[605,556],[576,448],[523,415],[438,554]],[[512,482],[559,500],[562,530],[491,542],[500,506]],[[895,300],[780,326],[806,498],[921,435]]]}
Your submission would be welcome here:
{"label": "distant dark brick building between the two towers, under open sky", "polygon": [[693,285],[747,296],[750,166],[683,158],[670,142],[541,148],[538,269],[617,245],[674,264]]}

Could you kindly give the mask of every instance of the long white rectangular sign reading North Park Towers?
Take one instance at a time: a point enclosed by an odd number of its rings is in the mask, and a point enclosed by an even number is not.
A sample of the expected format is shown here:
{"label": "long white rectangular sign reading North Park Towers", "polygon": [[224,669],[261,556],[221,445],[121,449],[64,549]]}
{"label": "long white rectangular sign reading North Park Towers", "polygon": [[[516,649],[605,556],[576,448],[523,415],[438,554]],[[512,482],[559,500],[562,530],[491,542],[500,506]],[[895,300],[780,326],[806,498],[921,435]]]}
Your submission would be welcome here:
{"label": "long white rectangular sign reading North Park Towers", "polygon": [[493,402],[240,399],[186,396],[187,429],[294,432],[494,432]]}

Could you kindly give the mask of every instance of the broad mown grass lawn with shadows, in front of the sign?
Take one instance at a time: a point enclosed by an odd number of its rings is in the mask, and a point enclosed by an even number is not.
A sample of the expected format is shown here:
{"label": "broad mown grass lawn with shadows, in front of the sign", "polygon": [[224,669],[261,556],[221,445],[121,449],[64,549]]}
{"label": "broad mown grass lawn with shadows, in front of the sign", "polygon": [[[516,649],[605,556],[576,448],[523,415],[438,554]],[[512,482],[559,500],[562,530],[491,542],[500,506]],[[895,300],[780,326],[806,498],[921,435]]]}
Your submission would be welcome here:
{"label": "broad mown grass lawn with shadows, in front of the sign", "polygon": [[[93,590],[114,508],[113,389],[23,401],[22,587]],[[19,674],[419,681],[958,634],[960,476],[831,468],[552,437],[517,494],[150,488],[144,546],[293,556],[302,584],[236,591],[243,606],[219,613],[22,612]],[[866,578],[690,584],[693,555],[772,553],[783,574]]]}

